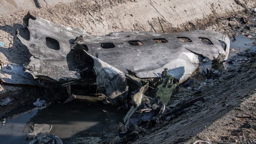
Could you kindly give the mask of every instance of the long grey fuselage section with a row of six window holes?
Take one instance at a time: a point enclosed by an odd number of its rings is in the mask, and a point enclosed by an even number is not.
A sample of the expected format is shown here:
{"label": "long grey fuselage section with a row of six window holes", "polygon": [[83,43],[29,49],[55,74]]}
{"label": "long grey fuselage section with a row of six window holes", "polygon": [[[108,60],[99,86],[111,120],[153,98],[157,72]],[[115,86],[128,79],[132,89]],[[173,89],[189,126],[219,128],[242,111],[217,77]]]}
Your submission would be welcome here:
{"label": "long grey fuselage section with a row of six window holes", "polygon": [[[180,37],[189,38],[190,42],[182,42]],[[206,44],[200,38],[207,38],[212,44]],[[156,39],[165,42],[156,42]],[[133,46],[130,41],[143,44]],[[219,41],[225,42],[226,49]],[[115,47],[102,48],[100,44],[107,42]],[[182,83],[198,68],[202,58],[208,57],[218,63],[226,60],[230,41],[224,34],[196,30],[176,34],[116,32],[109,36],[85,36],[80,44],[86,44],[88,53],[123,72],[128,69],[140,78],[154,78],[168,68],[168,74]]]}

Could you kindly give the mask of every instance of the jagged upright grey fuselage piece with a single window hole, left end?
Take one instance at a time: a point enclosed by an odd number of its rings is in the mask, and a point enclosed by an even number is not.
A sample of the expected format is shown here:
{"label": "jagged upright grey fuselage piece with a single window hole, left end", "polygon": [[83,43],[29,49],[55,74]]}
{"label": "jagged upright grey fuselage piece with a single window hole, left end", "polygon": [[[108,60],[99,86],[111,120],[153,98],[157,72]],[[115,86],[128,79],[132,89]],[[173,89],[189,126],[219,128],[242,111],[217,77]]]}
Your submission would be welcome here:
{"label": "jagged upright grey fuselage piece with a single window hole, left end", "polygon": [[70,43],[76,36],[86,35],[84,30],[56,25],[38,17],[29,17],[27,28],[30,40],[25,40],[19,33],[17,37],[33,55],[26,68],[34,78],[41,75],[57,81],[80,78],[75,68],[68,67],[67,56],[71,50]]}

